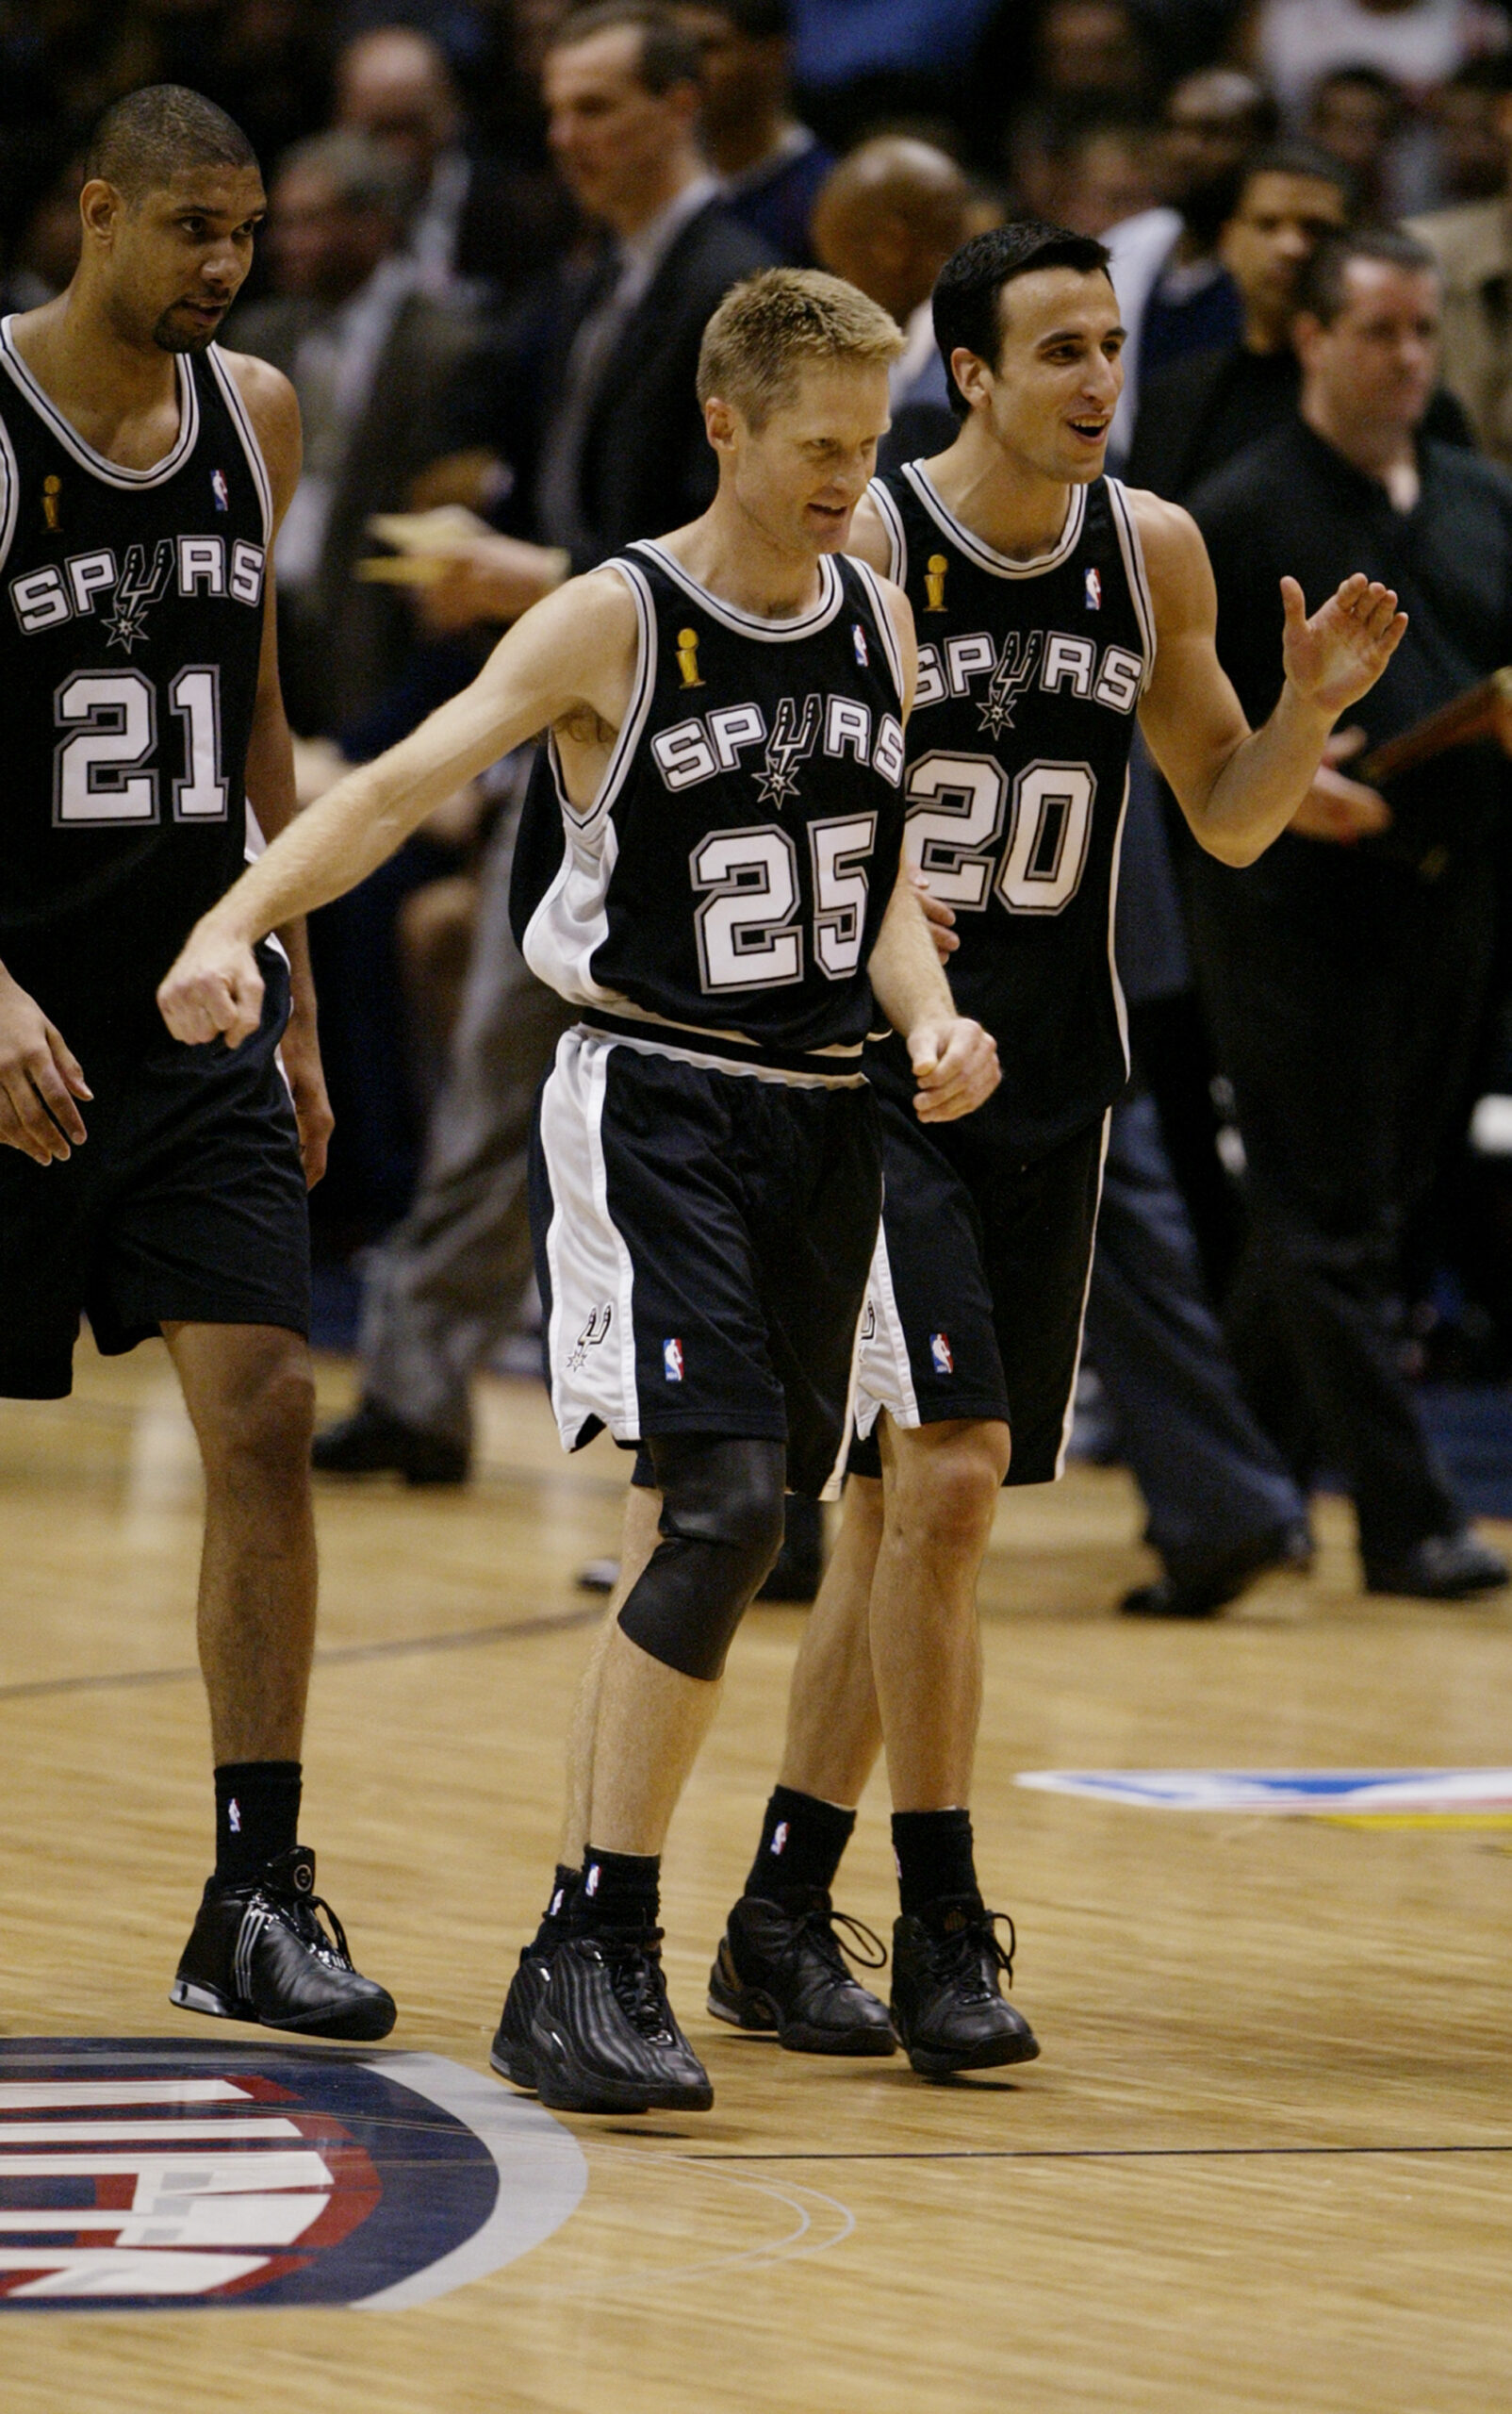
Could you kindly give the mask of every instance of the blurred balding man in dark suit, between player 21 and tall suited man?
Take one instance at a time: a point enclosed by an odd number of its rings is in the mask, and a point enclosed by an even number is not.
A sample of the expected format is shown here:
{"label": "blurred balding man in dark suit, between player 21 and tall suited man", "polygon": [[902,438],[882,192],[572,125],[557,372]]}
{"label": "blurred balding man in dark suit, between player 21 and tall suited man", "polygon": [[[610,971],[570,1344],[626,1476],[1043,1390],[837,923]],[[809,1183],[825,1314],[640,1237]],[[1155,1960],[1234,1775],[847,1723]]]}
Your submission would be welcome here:
{"label": "blurred balding man in dark suit, between player 21 and tall suited man", "polygon": [[514,299],[572,234],[562,186],[477,157],[444,51],[410,27],[359,34],[335,65],[335,123],[371,135],[410,176],[405,249],[432,295],[482,287]]}

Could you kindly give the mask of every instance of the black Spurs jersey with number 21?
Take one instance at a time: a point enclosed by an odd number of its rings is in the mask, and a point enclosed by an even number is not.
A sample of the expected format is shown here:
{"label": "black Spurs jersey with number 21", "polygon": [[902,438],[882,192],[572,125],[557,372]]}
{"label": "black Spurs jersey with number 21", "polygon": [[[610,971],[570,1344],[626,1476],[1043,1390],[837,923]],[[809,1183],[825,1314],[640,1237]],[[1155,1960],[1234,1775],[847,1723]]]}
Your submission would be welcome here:
{"label": "black Spurs jersey with number 21", "polygon": [[0,963],[80,1055],[162,1036],[154,987],[246,859],[272,500],[222,357],[176,369],[176,442],[121,468],[0,326]]}

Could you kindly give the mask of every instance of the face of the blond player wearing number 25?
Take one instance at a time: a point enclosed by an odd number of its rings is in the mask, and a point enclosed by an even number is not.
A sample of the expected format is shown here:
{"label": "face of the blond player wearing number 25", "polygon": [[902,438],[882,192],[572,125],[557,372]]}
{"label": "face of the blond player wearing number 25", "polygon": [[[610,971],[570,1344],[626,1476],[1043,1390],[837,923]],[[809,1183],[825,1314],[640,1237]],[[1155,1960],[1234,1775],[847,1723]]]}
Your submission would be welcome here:
{"label": "face of the blond player wearing number 25", "polygon": [[721,396],[709,396],[704,418],[721,490],[772,546],[844,550],[887,430],[885,367],[805,362],[760,427]]}

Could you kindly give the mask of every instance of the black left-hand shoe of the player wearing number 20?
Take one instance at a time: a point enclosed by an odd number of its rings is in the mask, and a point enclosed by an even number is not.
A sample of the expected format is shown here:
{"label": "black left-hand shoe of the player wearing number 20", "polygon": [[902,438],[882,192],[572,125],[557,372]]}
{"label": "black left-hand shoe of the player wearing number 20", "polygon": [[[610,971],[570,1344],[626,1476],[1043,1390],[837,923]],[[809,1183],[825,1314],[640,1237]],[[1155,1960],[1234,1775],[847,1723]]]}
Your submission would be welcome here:
{"label": "black left-hand shoe of the player wearing number 20", "polygon": [[[844,1926],[871,1953],[834,1934]],[[709,1972],[709,2011],[731,2028],[776,2030],[793,2054],[892,2054],[887,2006],[851,1977],[844,1955],[883,1970],[887,1948],[849,1912],[830,1907],[825,1888],[791,1895],[791,1907],[743,1895],[728,1917]]]}

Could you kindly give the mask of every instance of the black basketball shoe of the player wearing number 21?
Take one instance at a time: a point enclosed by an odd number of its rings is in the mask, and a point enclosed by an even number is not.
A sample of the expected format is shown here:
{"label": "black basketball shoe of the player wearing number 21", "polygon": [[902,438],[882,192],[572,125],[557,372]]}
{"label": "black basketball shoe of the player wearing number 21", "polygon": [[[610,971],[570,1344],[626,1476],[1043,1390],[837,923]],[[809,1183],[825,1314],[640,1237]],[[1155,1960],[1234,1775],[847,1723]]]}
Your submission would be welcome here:
{"label": "black basketball shoe of the player wearing number 21", "polygon": [[[316,1919],[326,1912],[330,1934]],[[393,1996],[352,1967],[347,1934],[316,1895],[316,1856],[280,1852],[251,1885],[205,1881],[171,2001],[217,2021],[258,2021],[304,2037],[386,2037]]]}

